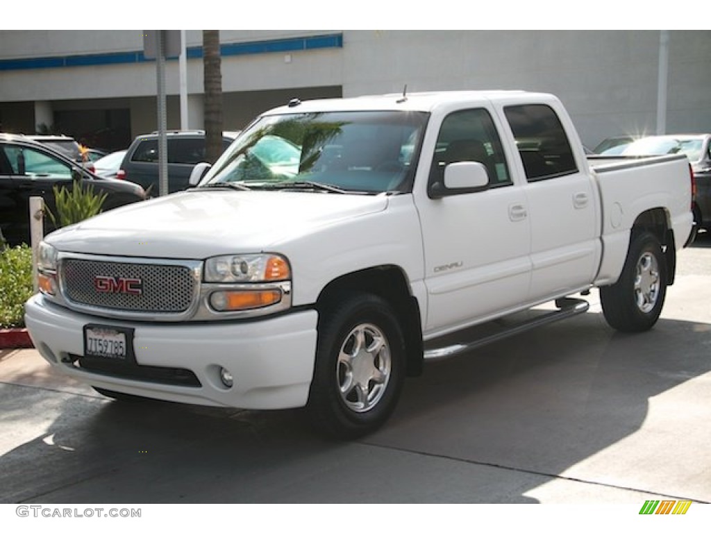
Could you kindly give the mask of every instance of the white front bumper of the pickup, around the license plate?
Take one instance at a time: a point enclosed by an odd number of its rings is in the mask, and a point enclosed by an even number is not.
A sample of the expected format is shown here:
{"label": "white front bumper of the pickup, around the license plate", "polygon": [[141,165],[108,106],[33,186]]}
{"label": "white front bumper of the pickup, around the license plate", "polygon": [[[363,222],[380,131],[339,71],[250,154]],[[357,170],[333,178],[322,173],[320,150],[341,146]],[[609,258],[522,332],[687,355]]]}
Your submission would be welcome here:
{"label": "white front bumper of the pickup, around the license plate", "polygon": [[[75,313],[41,294],[25,305],[25,322],[38,352],[50,365],[92,387],[171,402],[242,409],[302,407],[309,397],[316,357],[314,310],[249,323],[140,323]],[[166,384],[150,377],[119,377],[85,370],[73,361],[84,352],[87,324],[134,328],[139,367],[192,372],[198,384]],[[220,367],[234,377],[220,379]]]}

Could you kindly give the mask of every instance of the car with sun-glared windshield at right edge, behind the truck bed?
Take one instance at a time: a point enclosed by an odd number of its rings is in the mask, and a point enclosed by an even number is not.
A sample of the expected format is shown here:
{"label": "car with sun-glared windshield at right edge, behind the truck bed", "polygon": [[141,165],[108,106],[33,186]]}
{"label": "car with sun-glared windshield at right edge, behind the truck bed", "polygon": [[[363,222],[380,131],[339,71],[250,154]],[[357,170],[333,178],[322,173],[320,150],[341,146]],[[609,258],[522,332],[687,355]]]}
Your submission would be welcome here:
{"label": "car with sun-glared windshield at right edge, behind the truck bed", "polygon": [[[694,222],[697,229],[711,230],[711,134],[653,135],[624,147],[622,156],[685,154],[695,178]],[[615,155],[606,151],[603,155]]]}

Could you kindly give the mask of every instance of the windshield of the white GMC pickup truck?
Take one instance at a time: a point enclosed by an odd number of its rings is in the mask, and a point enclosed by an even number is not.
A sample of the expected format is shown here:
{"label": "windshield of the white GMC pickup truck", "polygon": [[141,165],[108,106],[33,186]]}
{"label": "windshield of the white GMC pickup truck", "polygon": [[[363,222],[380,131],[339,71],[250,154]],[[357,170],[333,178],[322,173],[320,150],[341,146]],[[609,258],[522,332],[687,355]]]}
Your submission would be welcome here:
{"label": "windshield of the white GMC pickup truck", "polygon": [[262,117],[218,159],[202,185],[404,192],[426,122],[426,113],[393,111]]}

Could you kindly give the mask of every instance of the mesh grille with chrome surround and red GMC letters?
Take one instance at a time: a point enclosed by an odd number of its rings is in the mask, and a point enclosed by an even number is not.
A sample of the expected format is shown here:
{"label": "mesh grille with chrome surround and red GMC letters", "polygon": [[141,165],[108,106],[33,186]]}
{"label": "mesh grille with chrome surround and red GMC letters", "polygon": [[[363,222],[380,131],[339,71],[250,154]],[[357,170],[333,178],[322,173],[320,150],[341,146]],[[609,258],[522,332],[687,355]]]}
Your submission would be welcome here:
{"label": "mesh grille with chrome surround and red GMC letters", "polygon": [[[97,278],[112,289],[97,288]],[[193,303],[196,279],[188,266],[65,258],[60,279],[68,303],[138,313],[184,313]],[[140,291],[125,291],[122,280],[140,280]]]}

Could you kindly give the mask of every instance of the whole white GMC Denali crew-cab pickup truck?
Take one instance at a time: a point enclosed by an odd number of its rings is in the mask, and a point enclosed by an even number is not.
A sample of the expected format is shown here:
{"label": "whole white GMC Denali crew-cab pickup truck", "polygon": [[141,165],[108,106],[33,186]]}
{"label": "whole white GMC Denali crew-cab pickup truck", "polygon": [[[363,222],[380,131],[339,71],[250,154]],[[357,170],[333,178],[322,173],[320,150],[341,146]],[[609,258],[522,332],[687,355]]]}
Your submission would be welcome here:
{"label": "whole white GMC Denali crew-cab pickup truck", "polygon": [[594,287],[613,328],[651,328],[693,221],[684,156],[591,166],[560,101],[523,91],[292,100],[206,166],[46,237],[34,345],[109,397],[306,407],[346,438],[484,342],[449,333],[572,316]]}

